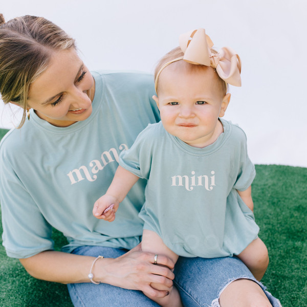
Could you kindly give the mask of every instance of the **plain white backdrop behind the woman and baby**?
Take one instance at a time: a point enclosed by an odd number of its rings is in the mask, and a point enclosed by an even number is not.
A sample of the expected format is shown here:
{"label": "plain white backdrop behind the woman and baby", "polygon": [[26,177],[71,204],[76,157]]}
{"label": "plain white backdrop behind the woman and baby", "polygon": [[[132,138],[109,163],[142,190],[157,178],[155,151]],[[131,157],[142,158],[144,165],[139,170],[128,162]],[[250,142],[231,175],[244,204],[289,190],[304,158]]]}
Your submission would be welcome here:
{"label": "plain white backdrop behind the woman and baby", "polygon": [[[217,49],[242,59],[243,86],[231,87],[225,118],[246,131],[252,161],[307,167],[307,1],[10,0],[0,12],[52,20],[76,38],[90,70],[152,72],[181,33],[205,28]],[[11,122],[0,101],[0,126]]]}

